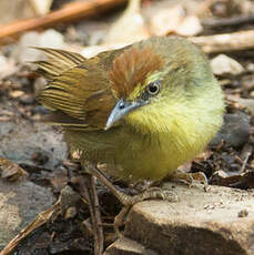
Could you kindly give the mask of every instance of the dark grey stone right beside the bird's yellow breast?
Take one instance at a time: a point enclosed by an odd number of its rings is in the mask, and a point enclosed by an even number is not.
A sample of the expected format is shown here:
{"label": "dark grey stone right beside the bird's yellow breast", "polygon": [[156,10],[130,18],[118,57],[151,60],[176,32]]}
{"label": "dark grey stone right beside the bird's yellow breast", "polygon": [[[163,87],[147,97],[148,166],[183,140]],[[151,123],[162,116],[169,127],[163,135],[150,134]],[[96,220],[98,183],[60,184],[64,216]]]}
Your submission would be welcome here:
{"label": "dark grey stone right beside the bird's yellow breast", "polygon": [[216,146],[224,140],[227,146],[240,147],[248,141],[251,130],[252,126],[247,114],[243,112],[225,114],[224,124],[211,141],[210,146]]}

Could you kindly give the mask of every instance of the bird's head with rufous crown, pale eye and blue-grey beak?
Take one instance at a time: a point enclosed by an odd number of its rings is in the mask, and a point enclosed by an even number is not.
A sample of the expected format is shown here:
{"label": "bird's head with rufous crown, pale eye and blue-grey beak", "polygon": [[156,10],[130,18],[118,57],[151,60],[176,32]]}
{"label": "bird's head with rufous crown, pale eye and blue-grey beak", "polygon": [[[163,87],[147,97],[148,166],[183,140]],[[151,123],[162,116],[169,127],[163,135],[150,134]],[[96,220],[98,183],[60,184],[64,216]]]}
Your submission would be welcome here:
{"label": "bird's head with rufous crown, pale eye and blue-grey beak", "polygon": [[182,41],[167,44],[166,39],[163,42],[155,38],[130,47],[113,61],[110,78],[118,103],[108,118],[105,130],[120,120],[132,125],[144,122],[156,125],[161,116],[169,118],[172,108],[181,109],[181,104],[194,96],[199,79],[202,76],[202,83],[210,72],[206,63],[196,67],[204,59],[203,53],[192,43],[184,40],[182,44]]}

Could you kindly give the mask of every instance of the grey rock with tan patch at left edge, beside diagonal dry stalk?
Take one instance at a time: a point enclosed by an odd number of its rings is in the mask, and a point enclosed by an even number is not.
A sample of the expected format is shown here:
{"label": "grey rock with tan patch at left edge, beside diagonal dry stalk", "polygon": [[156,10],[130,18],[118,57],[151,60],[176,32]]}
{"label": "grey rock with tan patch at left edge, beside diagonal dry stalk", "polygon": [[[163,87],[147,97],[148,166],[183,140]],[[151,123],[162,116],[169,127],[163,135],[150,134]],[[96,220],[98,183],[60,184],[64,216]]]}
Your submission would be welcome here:
{"label": "grey rock with tan patch at left edge, beside diagonal dry stalk", "polygon": [[44,187],[0,178],[0,251],[53,202],[52,193]]}

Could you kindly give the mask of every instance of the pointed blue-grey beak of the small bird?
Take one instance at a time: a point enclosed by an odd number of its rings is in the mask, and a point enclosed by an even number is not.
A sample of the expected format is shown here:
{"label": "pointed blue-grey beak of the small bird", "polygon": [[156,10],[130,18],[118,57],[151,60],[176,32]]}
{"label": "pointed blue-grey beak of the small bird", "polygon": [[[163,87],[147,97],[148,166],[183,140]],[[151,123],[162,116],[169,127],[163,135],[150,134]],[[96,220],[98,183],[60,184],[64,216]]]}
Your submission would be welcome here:
{"label": "pointed blue-grey beak of the small bird", "polygon": [[144,101],[128,102],[123,99],[119,100],[119,102],[110,113],[110,116],[108,118],[104,130],[109,130],[116,121],[121,120],[129,112],[144,104]]}

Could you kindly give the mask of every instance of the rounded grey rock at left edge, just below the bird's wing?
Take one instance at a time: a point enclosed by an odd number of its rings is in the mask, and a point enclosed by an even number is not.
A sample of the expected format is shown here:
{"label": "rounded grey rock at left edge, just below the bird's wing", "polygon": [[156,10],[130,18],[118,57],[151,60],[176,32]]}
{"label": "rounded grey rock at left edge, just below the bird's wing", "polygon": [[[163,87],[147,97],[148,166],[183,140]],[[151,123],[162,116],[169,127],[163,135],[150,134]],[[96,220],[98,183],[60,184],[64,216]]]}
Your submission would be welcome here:
{"label": "rounded grey rock at left edge, just below the bird's wing", "polygon": [[[18,124],[2,122],[0,136],[0,156],[14,163],[53,170],[67,159],[62,134],[57,134],[50,125],[26,121],[19,121]],[[39,161],[38,157],[47,160]]]}

